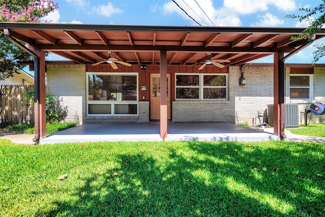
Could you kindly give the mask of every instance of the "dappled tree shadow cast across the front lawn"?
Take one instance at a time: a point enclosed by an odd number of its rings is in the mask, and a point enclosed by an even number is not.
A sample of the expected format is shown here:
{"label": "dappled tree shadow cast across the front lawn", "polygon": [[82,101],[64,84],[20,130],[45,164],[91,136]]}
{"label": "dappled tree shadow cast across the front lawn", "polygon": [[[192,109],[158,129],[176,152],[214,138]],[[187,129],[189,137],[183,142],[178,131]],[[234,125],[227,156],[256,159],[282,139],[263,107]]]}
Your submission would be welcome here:
{"label": "dappled tree shadow cast across the front lawn", "polygon": [[288,143],[280,148],[158,143],[150,150],[112,154],[118,164],[80,180],[75,199],[62,198],[37,215],[325,215],[325,183],[315,171],[325,162],[310,146],[292,151]]}

